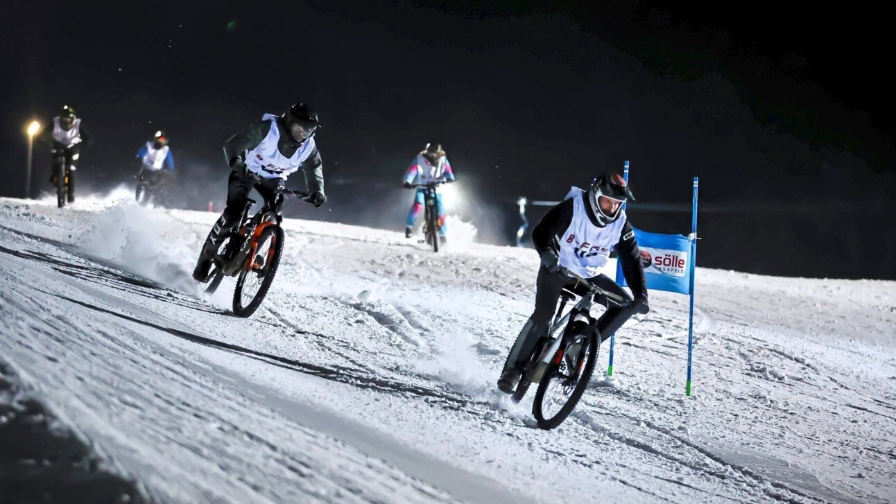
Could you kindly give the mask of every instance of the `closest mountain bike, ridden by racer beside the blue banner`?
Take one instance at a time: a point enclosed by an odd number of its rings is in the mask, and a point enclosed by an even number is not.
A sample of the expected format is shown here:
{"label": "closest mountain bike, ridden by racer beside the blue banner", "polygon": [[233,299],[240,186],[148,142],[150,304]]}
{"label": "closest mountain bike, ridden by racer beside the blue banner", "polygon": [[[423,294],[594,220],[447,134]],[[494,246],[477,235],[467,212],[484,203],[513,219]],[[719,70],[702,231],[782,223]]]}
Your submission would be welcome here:
{"label": "closest mountain bike, ridden by racer beside the blue banner", "polygon": [[583,286],[589,295],[582,295],[569,312],[563,314],[567,303],[578,295],[564,288],[560,294],[560,307],[547,329],[547,335],[538,340],[530,362],[523,369],[520,382],[513,392],[513,401],[519,402],[532,383],[538,383],[532,415],[539,429],[553,429],[573,412],[588,387],[594,363],[600,350],[597,320],[590,315],[595,303],[604,306],[622,306],[628,300],[595,286],[568,269],[565,274],[578,280],[573,286]]}

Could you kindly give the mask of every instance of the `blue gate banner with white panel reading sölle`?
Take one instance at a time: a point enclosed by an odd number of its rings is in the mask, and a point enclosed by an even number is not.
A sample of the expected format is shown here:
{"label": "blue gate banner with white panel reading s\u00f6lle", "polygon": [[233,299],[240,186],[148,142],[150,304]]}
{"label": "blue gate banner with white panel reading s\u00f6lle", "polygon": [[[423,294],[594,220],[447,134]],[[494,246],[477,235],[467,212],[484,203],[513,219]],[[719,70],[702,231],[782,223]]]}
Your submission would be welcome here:
{"label": "blue gate banner with white panel reading s\u00f6lle", "polygon": [[[660,235],[635,229],[634,237],[641,249],[641,266],[647,288],[691,294],[691,241],[687,236]],[[625,286],[621,268],[616,273],[616,281]]]}

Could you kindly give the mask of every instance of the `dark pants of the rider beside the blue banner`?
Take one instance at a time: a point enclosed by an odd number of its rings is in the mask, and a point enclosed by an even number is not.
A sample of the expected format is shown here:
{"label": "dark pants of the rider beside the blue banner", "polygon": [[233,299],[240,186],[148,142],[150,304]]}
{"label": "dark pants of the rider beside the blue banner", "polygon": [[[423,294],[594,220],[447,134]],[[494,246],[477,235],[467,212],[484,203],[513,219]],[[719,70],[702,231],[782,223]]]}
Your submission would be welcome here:
{"label": "dark pants of the rider beside the blue banner", "polygon": [[[607,275],[599,275],[589,278],[590,282],[607,292],[621,295],[624,299],[631,301],[632,295],[629,295],[624,288],[616,284],[612,278]],[[526,325],[522,327],[520,336],[516,338],[516,342],[510,351],[510,356],[504,366],[504,371],[512,368],[522,370],[522,367],[529,362],[532,350],[538,343],[538,337],[546,334],[551,320],[557,309],[557,300],[560,298],[560,291],[566,287],[577,295],[591,295],[584,286],[576,286],[578,280],[569,278],[563,273],[551,273],[544,267],[538,269],[538,280],[535,284],[535,312],[532,312]],[[633,310],[628,306],[613,306],[607,308],[597,321],[597,329],[600,333],[600,341],[610,337],[634,314]]]}

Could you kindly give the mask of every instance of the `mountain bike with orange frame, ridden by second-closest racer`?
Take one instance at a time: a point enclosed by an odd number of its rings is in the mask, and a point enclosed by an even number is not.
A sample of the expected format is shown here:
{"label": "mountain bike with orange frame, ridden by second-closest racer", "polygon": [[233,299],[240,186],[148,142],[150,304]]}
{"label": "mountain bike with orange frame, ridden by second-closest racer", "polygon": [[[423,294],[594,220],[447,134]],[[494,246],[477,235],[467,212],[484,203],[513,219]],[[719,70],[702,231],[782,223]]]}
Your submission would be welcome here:
{"label": "mountain bike with orange frame, ridden by second-closest racer", "polygon": [[[277,273],[283,252],[284,234],[280,227],[283,217],[280,211],[285,195],[308,196],[306,192],[289,191],[282,187],[261,193],[264,199],[261,209],[250,218],[249,212],[255,201],[246,201],[236,231],[225,237],[218,246],[206,280],[208,286],[205,292],[211,294],[218,290],[224,277],[237,277],[233,312],[239,317],[248,317],[258,309]],[[202,261],[202,252],[199,261]]]}

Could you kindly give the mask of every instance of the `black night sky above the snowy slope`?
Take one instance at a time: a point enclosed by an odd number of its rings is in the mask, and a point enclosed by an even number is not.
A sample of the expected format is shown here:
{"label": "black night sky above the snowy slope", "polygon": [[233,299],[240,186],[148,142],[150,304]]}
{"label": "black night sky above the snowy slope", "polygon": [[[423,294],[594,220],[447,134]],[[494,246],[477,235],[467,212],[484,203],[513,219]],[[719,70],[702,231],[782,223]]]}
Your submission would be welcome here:
{"label": "black night sky above the snowy slope", "polygon": [[[133,186],[134,153],[161,129],[170,205],[220,209],[223,142],[306,101],[330,201],[291,217],[401,230],[401,175],[437,141],[465,195],[449,213],[509,244],[518,196],[559,200],[629,159],[638,203],[668,205],[630,206],[649,231],[690,231],[700,176],[700,266],[896,279],[881,13],[595,4],[7,0],[0,196],[24,193],[25,125],[69,105],[95,136],[80,194]],[[48,166],[37,150],[32,195]]]}

